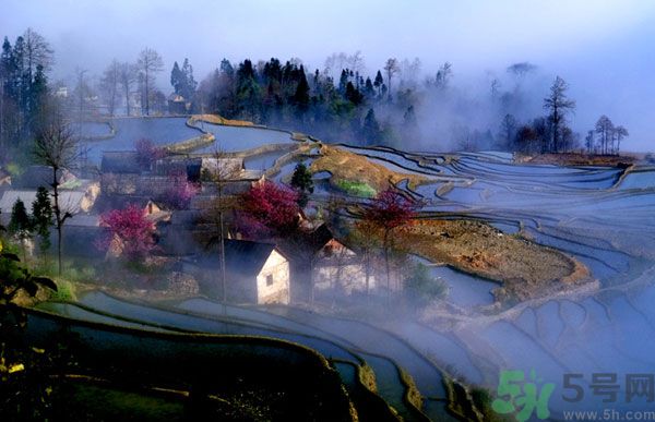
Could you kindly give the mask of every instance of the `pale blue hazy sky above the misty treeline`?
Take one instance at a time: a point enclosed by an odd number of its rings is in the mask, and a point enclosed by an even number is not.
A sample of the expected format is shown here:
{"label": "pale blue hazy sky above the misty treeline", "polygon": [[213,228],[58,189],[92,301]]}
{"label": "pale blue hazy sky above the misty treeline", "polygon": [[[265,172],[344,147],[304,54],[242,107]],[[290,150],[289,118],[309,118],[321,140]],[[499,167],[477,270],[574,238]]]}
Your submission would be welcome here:
{"label": "pale blue hazy sky above the misty treeline", "polygon": [[148,46],[164,57],[163,87],[184,57],[198,80],[223,57],[298,57],[314,69],[361,50],[371,72],[389,57],[419,57],[430,74],[450,61],[458,83],[529,61],[570,83],[575,129],[607,113],[631,130],[627,148],[655,149],[651,0],[2,0],[0,35],[13,43],[27,27],[52,45],[56,79],[75,67],[99,73]]}

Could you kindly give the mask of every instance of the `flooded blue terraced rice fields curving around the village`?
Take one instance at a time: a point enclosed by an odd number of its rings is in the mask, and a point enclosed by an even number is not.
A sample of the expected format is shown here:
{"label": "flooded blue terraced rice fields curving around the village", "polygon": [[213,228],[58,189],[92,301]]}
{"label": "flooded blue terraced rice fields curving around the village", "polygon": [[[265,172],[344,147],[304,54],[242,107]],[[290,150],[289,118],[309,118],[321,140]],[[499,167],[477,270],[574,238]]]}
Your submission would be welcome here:
{"label": "flooded blue terraced rice fields curving around the village", "polygon": [[[139,128],[166,132],[160,138],[151,135],[162,144],[198,134],[176,118],[152,119],[145,126],[129,122],[119,122],[117,137],[100,145],[127,147],[122,136],[136,134]],[[123,124],[136,124],[136,129]],[[263,129],[205,123],[204,130],[213,132],[227,150],[289,142],[286,133]],[[420,319],[374,324],[294,308],[222,305],[202,298],[155,306],[96,292],[83,297],[82,306],[46,306],[148,330],[252,334],[295,341],[333,360],[345,385],[353,385],[354,369],[372,367],[378,394],[406,420],[424,415],[403,398],[407,387],[401,369],[424,397],[420,411],[432,420],[452,418],[443,401],[443,373],[495,389],[501,370],[534,370],[557,385],[550,409],[558,419],[563,410],[574,409],[562,399],[565,373],[584,375],[584,405],[595,408],[603,397],[588,394],[592,373],[617,373],[620,379],[628,373],[653,372],[655,169],[638,166],[624,173],[618,168],[513,165],[511,156],[502,153],[440,155],[342,147],[394,171],[433,179],[433,184],[415,191],[406,183],[397,185],[426,201],[424,218],[473,218],[505,236],[520,233],[577,258],[598,282],[500,310],[492,306],[490,294],[496,284],[434,267],[433,274],[450,285],[445,303],[428,310]],[[276,158],[271,155],[247,162],[270,168]],[[294,167],[295,162],[284,165],[275,179],[285,180]],[[334,193],[325,182],[330,173],[318,176],[323,183],[315,196]],[[615,407],[627,406],[619,400]],[[635,410],[646,403],[630,406]]]}

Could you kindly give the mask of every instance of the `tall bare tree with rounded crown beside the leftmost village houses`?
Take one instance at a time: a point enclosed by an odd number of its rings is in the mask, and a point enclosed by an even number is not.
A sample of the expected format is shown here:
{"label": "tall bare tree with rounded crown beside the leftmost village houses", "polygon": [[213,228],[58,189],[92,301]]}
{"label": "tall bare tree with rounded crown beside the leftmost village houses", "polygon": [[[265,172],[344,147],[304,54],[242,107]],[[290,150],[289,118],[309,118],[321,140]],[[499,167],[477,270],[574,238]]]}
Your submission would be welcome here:
{"label": "tall bare tree with rounded crown beside the leftmost village houses", "polygon": [[63,209],[59,197],[59,177],[62,171],[73,168],[80,157],[79,141],[73,135],[70,125],[57,114],[49,123],[45,124],[35,141],[34,155],[36,160],[52,169],[52,213],[57,229],[58,272],[61,275],[61,234],[63,225],[72,217],[71,213]]}

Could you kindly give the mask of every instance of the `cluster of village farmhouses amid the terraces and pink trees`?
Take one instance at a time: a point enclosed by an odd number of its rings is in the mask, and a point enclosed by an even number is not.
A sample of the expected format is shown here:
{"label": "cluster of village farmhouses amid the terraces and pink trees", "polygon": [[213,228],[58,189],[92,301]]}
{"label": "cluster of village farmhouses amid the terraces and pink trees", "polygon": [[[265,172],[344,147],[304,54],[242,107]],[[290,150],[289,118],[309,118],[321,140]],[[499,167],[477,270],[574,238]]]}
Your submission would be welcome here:
{"label": "cluster of village farmhouses amid the terraces and pink trees", "polygon": [[[225,298],[235,303],[289,303],[321,291],[361,293],[376,285],[357,254],[340,242],[321,219],[298,213],[291,240],[252,234],[245,240],[230,201],[266,183],[261,171],[247,170],[242,158],[168,155],[143,162],[135,150],[103,153],[99,172],[78,177],[58,172],[59,204],[71,218],[62,232],[67,255],[115,260],[126,252],[120,239],[98,248],[107,236],[103,215],[136,206],[155,227],[155,255],[174,262],[171,289],[216,291],[225,277]],[[87,172],[88,173],[88,172]],[[52,169],[28,167],[20,177],[0,174],[0,222],[12,208],[28,208],[39,186],[52,184]],[[186,192],[192,190],[192,192]],[[223,242],[217,242],[217,208]],[[28,242],[28,249],[36,242]],[[221,254],[221,248],[224,254]],[[223,265],[225,268],[223,268]],[[177,277],[175,277],[177,275]],[[181,284],[183,286],[175,286]]]}

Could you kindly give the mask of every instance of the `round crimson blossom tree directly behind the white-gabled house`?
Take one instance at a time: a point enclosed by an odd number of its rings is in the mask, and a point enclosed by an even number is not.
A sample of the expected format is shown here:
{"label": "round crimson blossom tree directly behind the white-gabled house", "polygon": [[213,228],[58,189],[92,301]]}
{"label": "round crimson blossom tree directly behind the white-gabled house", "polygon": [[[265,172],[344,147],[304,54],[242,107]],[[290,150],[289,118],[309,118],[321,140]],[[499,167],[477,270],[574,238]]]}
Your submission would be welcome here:
{"label": "round crimson blossom tree directly behind the white-gabled house", "polygon": [[239,228],[246,237],[281,236],[298,226],[298,193],[264,181],[241,196]]}

